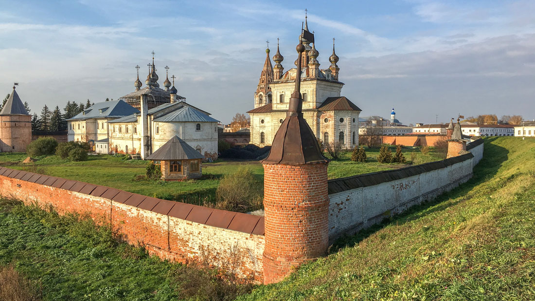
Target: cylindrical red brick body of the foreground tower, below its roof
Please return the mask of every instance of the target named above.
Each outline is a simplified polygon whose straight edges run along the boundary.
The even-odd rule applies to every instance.
[[[325,254],[328,205],[326,163],[264,164],[265,284]]]

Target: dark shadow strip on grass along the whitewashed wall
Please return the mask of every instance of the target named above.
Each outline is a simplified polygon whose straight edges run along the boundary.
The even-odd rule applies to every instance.
[[[360,243],[365,238],[368,238],[375,232],[387,227],[388,225],[404,224],[409,221],[420,219],[421,217],[424,217],[434,212],[445,210],[464,201],[464,199],[462,198],[463,195],[467,194],[470,190],[473,189],[473,187],[482,184],[487,180],[490,180],[498,173],[498,170],[502,166],[503,162],[507,161],[509,151],[506,148],[492,144],[492,141],[496,139],[498,138],[491,137],[484,139],[485,145],[483,159],[479,161],[476,167],[474,167],[473,176],[470,180],[468,180],[468,182],[459,185],[452,191],[441,194],[439,197],[431,201],[424,202],[420,205],[412,206],[401,214],[391,216],[379,224],[375,224],[369,228],[358,231],[355,235],[341,236],[340,238],[335,240],[332,246],[330,246],[329,253],[338,252],[338,250],[342,249],[343,247],[353,247],[355,244]],[[426,210],[449,199],[458,200],[454,202],[449,202],[447,204],[442,204],[431,210]]]

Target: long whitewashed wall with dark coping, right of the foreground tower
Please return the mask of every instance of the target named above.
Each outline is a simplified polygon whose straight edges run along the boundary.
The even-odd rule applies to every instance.
[[[483,140],[469,146],[470,153],[442,161],[329,180],[329,240],[370,227],[467,182],[483,157]]]

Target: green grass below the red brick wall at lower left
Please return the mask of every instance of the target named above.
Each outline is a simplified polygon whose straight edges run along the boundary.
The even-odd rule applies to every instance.
[[[8,265],[16,269],[3,281]],[[217,270],[149,257],[86,217],[9,199],[0,199],[0,272],[0,297],[29,296],[20,300],[231,300],[250,288]]]

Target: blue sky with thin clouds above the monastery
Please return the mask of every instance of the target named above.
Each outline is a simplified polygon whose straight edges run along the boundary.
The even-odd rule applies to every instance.
[[[361,116],[404,124],[458,114],[535,118],[535,1],[4,1],[0,95],[33,112],[134,91],[155,52],[188,103],[230,123],[253,109],[265,61],[280,39],[294,67],[305,9],[320,68],[332,38],[342,95]],[[438,116],[437,116],[438,115]]]

